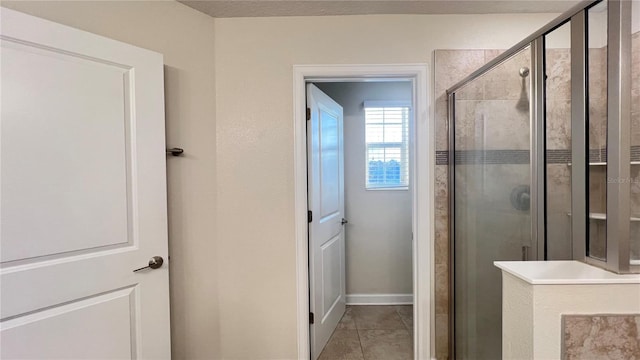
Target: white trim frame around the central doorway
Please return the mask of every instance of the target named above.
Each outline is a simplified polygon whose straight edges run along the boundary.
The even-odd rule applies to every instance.
[[[309,247],[307,221],[306,83],[313,80],[410,79],[413,131],[409,151],[413,231],[414,358],[435,358],[435,123],[429,107],[427,64],[294,65],[294,209],[298,359],[309,359]]]

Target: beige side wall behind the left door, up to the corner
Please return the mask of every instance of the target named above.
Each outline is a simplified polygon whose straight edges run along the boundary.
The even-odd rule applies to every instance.
[[[167,164],[172,353],[218,357],[214,20],[173,1],[2,6],[164,54],[167,144],[186,151]]]

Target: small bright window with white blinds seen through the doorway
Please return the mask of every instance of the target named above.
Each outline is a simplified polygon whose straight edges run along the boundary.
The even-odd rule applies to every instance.
[[[365,101],[366,188],[409,186],[409,113],[406,102]]]

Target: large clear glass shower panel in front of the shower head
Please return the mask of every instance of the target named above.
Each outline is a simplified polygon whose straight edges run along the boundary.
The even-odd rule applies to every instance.
[[[456,359],[502,357],[502,278],[493,262],[537,256],[531,236],[529,69],[526,47],[455,91]]]

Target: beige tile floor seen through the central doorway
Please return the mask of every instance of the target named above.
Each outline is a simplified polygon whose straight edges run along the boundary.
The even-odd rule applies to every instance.
[[[319,360],[413,359],[413,306],[347,306]]]

